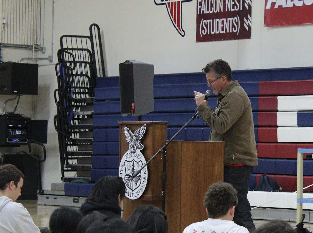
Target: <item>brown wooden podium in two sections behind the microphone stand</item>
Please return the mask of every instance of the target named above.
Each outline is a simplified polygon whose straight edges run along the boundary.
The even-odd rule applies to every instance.
[[[148,161],[166,143],[168,122],[118,122],[120,124],[120,161],[128,151],[124,127],[132,132],[146,124],[141,139],[141,153]],[[162,206],[163,154],[159,153],[148,164],[148,181],[144,194],[131,200],[124,198],[123,219],[141,205]],[[224,142],[172,141],[167,146],[167,182],[165,213],[169,233],[181,233],[194,222],[208,219],[203,207],[204,193],[208,187],[223,181]]]

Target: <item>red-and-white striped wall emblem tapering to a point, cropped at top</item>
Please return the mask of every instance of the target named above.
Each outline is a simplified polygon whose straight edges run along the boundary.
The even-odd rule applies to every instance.
[[[173,26],[183,37],[185,31],[182,29],[182,3],[192,0],[154,0],[156,5],[166,5],[168,16],[171,18]]]

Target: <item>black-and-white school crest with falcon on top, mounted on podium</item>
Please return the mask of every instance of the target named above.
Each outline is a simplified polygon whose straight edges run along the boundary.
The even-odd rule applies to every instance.
[[[119,168],[119,176],[124,179],[126,184],[126,197],[129,199],[139,198],[146,189],[148,178],[147,167],[143,168],[136,176],[133,175],[146,163],[146,159],[140,152],[143,149],[141,138],[146,132],[146,124],[137,129],[134,133],[124,127],[126,141],[129,142],[128,151],[123,155]]]

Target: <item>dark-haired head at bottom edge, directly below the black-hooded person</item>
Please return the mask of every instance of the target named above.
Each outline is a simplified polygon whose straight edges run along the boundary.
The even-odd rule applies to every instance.
[[[121,218],[104,217],[93,222],[85,233],[134,233],[131,226]]]

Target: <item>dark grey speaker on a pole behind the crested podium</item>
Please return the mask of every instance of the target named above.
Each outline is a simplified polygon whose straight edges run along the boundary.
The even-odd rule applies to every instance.
[[[120,64],[121,115],[141,116],[154,110],[154,65],[135,60]]]

